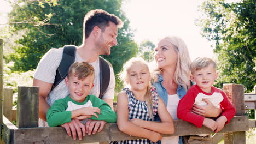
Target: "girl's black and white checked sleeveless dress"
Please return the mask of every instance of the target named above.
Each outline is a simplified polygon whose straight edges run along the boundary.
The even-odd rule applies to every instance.
[[[137,100],[135,95],[131,92],[129,88],[123,88],[128,97],[128,109],[129,109],[129,121],[133,118],[138,118],[146,121],[152,121],[149,118],[148,107],[146,101]],[[152,105],[153,105],[153,116],[156,115],[158,111],[158,94],[154,87],[151,88],[152,93]],[[137,139],[137,140],[125,140],[125,141],[112,141],[112,144],[144,144],[144,143],[154,143],[149,139]]]

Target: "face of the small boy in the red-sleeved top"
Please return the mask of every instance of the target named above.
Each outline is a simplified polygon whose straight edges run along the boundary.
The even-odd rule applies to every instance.
[[[213,68],[212,64],[200,70],[195,70],[191,76],[191,79],[196,82],[196,85],[207,93],[212,92],[212,85],[217,78],[218,73],[216,69]]]

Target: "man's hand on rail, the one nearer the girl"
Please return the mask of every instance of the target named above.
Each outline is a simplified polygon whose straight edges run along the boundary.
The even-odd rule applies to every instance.
[[[105,124],[106,124],[105,121],[96,121],[96,120],[88,119],[88,121],[85,123],[86,134],[94,135],[96,134],[96,132],[100,132],[104,128]]]

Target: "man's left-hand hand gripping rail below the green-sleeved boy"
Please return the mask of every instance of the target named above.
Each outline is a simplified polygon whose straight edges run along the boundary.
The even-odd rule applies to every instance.
[[[62,124],[61,127],[66,129],[69,137],[71,137],[71,133],[72,133],[74,140],[77,139],[77,135],[78,135],[78,139],[82,140],[82,133],[83,133],[83,136],[85,136],[85,133],[86,133],[84,124],[81,123],[78,119],[72,119],[71,122]]]

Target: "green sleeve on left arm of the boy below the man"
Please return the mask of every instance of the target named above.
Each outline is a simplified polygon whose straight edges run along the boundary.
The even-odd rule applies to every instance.
[[[65,99],[56,100],[47,112],[47,122],[50,127],[71,122],[71,111],[66,111]]]

